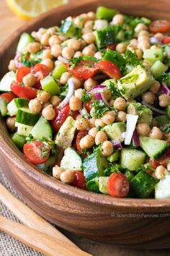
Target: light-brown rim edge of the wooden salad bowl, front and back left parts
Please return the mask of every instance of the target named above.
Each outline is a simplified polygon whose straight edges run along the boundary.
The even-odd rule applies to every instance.
[[[98,0],[86,0],[85,4],[97,4]],[[76,2],[76,7],[81,6],[81,1],[79,3]],[[9,36],[7,40],[1,44],[0,46],[0,59],[3,55],[4,51],[9,48],[9,46],[12,45],[12,41],[14,41],[16,38],[19,38],[19,35],[29,30],[32,25],[35,25],[37,22],[40,22],[42,20],[45,20],[46,17],[48,17],[52,13],[56,12],[64,12],[66,8],[75,6],[74,2],[71,2],[69,4],[65,4],[61,7],[57,7],[53,10],[50,10],[49,12],[46,12],[44,14],[41,14],[39,17],[35,18],[34,20],[31,20],[27,22],[27,24],[22,25],[22,27],[19,27],[19,29],[16,30],[15,33]],[[12,39],[13,38],[13,39]],[[12,162],[14,166],[19,168],[19,170],[23,171],[27,176],[30,176],[31,179],[34,179],[36,182],[42,182],[44,186],[47,186],[49,189],[53,189],[54,192],[61,192],[64,195],[68,197],[74,197],[77,200],[84,200],[86,202],[91,202],[93,204],[97,205],[107,205],[107,206],[114,206],[115,208],[122,208],[126,210],[130,209],[138,209],[138,210],[146,210],[148,212],[151,212],[153,210],[160,210],[161,208],[165,208],[165,211],[167,208],[170,207],[170,200],[169,199],[135,199],[135,198],[115,198],[111,197],[109,195],[99,195],[94,192],[85,191],[83,189],[79,189],[76,187],[72,187],[67,184],[63,184],[62,182],[59,182],[58,180],[54,179],[52,176],[49,176],[48,174],[45,174],[40,171],[39,168],[36,166],[28,163],[26,159],[24,158],[24,155],[17,149],[17,147],[13,144],[12,140],[9,140],[9,135],[4,129],[3,120],[0,121],[0,150],[1,153],[3,153],[6,158],[9,159],[9,161]],[[57,196],[57,194],[56,194]]]

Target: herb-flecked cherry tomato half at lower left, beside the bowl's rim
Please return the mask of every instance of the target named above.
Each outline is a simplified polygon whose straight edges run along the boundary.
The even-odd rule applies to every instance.
[[[24,144],[23,150],[27,161],[35,164],[45,163],[50,155],[50,149],[40,141]]]

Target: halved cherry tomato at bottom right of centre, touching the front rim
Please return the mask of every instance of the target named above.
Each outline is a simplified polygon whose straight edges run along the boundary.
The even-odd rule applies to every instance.
[[[120,173],[111,174],[107,186],[109,195],[112,195],[112,197],[125,197],[130,189],[127,177]]]

